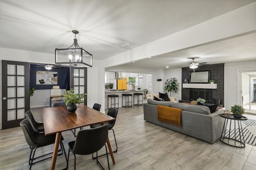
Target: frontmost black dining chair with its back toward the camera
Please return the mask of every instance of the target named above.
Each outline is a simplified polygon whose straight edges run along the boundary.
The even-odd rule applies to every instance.
[[[100,164],[98,160],[98,150],[100,150],[104,145],[106,149],[106,153],[108,152],[106,147],[106,142],[108,139],[108,125],[102,125],[100,127],[96,127],[94,129],[84,129],[78,131],[76,140],[68,143],[68,160],[70,151],[74,154],[74,170],[76,169],[76,154],[80,155],[88,155],[96,152],[97,163],[100,165],[102,169],[103,166]],[[108,154],[107,160],[108,160]],[[66,169],[68,169],[68,160]],[[108,169],[109,161],[108,161]]]

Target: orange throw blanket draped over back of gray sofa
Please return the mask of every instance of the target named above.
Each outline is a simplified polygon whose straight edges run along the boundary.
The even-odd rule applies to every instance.
[[[157,106],[157,118],[158,121],[165,123],[171,123],[180,127],[181,125],[181,111],[182,109],[177,109],[169,106]]]

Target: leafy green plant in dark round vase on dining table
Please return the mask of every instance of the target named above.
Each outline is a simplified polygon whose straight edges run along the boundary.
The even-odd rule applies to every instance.
[[[70,88],[70,91],[67,92],[64,90],[63,99],[65,100],[68,113],[74,113],[77,109],[76,104],[84,102],[83,99],[86,99],[86,93],[83,94],[75,94],[74,89]]]

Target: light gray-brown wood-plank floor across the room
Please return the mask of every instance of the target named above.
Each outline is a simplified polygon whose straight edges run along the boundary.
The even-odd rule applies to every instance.
[[[42,121],[41,109],[31,109],[35,119]],[[252,117],[250,117],[252,118]],[[86,127],[88,128],[88,127]],[[222,127],[220,127],[222,128]],[[110,158],[111,170],[255,170],[256,146],[246,144],[236,148],[220,140],[210,144],[176,131],[154,125],[143,118],[143,106],[119,108],[114,126],[118,152],[114,153],[116,164]],[[77,129],[78,130],[78,129]],[[71,131],[62,133],[68,153],[68,142],[75,139]],[[115,147],[112,131],[109,131],[112,149]],[[49,152],[52,146],[38,149],[37,153]],[[101,150],[104,152],[104,150]],[[30,153],[20,127],[0,130],[0,169],[28,170]],[[107,169],[106,156],[99,158]],[[50,169],[51,159],[32,165],[32,170]],[[69,168],[74,166],[70,154]],[[57,157],[56,170],[66,167],[64,154]],[[100,170],[91,155],[77,155],[77,170]]]

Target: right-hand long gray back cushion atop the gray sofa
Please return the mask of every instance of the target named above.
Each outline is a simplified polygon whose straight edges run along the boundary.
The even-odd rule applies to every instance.
[[[171,107],[176,107],[185,111],[191,111],[195,113],[201,113],[205,115],[211,114],[209,107],[207,106],[199,106],[199,105],[188,105],[188,104],[182,104],[182,103],[170,103]]]

